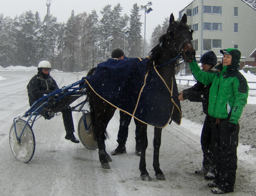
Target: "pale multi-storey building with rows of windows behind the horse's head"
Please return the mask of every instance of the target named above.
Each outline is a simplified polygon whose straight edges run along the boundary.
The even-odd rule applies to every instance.
[[[193,0],[179,12],[180,19],[184,13],[187,24],[194,30],[192,44],[197,56],[212,50],[221,61],[220,49],[238,48],[243,61],[241,67],[244,64],[256,66],[254,58],[250,57],[256,49],[256,9],[253,6],[244,0]]]

